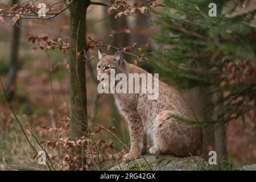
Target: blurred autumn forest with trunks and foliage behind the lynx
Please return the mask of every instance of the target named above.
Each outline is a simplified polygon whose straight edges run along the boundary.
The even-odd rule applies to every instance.
[[[113,97],[97,93],[97,46],[122,49],[183,93],[205,159],[215,150],[234,166],[256,163],[255,1],[46,0],[49,19],[34,14],[40,2],[0,1],[1,165],[108,169],[121,159],[129,132]]]

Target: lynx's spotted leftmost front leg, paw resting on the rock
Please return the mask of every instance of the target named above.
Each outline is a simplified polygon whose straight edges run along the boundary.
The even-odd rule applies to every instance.
[[[141,154],[145,152],[145,138],[143,132],[143,126],[141,118],[137,113],[129,113],[126,118],[128,122],[130,138],[131,138],[131,148],[130,152],[124,156],[125,162],[133,159],[137,159]]]

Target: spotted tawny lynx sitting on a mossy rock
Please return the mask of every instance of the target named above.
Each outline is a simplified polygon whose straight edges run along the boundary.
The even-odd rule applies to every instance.
[[[97,77],[103,73],[115,74],[147,73],[144,69],[127,63],[121,51],[114,56],[105,55],[100,50]],[[154,78],[156,79],[156,78]],[[171,86],[159,81],[159,97],[148,100],[147,94],[114,93],[115,103],[129,126],[131,148],[124,156],[126,161],[138,158],[147,151],[147,141],[151,141],[151,154],[172,154],[176,156],[200,155],[201,130],[177,121],[172,115],[197,121],[196,114],[183,96]]]

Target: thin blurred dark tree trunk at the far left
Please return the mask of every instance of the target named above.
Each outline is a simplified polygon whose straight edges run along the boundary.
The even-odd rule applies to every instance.
[[[12,4],[17,3],[17,0],[13,0]],[[9,101],[12,101],[15,96],[16,90],[16,78],[19,69],[19,39],[20,39],[20,28],[18,26],[21,25],[21,20],[16,22],[13,26],[13,36],[11,41],[11,56],[10,56],[10,69],[9,69],[9,82],[7,84],[7,98]]]

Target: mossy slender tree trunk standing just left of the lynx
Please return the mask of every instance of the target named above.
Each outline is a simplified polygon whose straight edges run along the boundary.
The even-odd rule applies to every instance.
[[[71,138],[79,138],[87,130],[86,112],[86,10],[89,0],[73,1],[70,5],[69,60]]]

